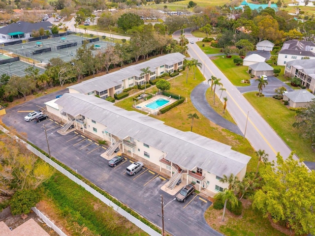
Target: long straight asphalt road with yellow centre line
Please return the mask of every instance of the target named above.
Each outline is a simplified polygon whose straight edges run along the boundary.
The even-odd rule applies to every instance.
[[[189,37],[186,35],[186,37],[189,39],[189,42],[190,40],[197,40],[197,38],[193,36]],[[188,48],[190,57],[198,59],[199,62],[202,63],[202,69],[200,69],[200,71],[204,73],[206,81],[210,79],[212,75],[221,78],[221,83],[226,89],[226,91],[223,91],[221,100],[223,97],[227,96],[227,110],[234,118],[244,136],[252,144],[252,147],[256,150],[265,150],[265,152],[269,154],[269,161],[276,160],[277,152],[280,152],[284,159],[287,158],[291,153],[291,149],[286,146],[284,141],[270,125],[254,110],[252,105],[243,97],[239,88],[232,85],[196,44],[189,43]],[[272,80],[274,79],[271,78],[270,82],[272,82]],[[219,94],[221,91],[216,89],[216,92]],[[272,113],[273,111],[270,110],[269,112]],[[297,159],[295,155],[294,158]]]

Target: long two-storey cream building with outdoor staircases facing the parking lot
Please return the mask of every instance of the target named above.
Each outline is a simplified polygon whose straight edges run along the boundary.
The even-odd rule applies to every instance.
[[[242,180],[251,159],[228,145],[177,130],[161,120],[126,111],[95,96],[65,93],[47,102],[46,107],[47,112],[74,124],[76,129],[106,140],[110,145],[108,156],[119,147],[136,160],[149,161],[171,177],[171,189],[182,179],[187,184],[194,183],[198,191],[223,191],[227,187],[220,182],[223,175],[233,174]]]

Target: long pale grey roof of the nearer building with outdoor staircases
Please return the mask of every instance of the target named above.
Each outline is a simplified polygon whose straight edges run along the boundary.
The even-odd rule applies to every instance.
[[[95,96],[65,93],[56,103],[65,113],[80,114],[105,125],[107,132],[121,139],[130,136],[165,152],[165,159],[189,170],[199,167],[220,177],[237,175],[251,159],[228,145],[169,127],[158,119],[126,111]]]

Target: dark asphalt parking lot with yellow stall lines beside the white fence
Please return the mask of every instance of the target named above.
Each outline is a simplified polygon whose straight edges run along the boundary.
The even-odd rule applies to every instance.
[[[164,223],[165,230],[170,234],[195,235],[198,232],[198,235],[221,235],[210,228],[204,219],[205,210],[212,204],[207,199],[194,194],[185,203],[174,201],[176,194],[172,196],[161,190],[168,181],[167,177],[148,169],[146,165],[134,176],[129,176],[126,167],[134,161],[129,156],[124,156],[126,160],[116,167],[110,167],[107,164],[109,158],[101,156],[106,147],[83,132],[73,130],[62,135],[57,132],[62,124],[51,118],[37,124],[24,120],[28,112],[44,107],[44,102],[60,93],[62,92],[39,97],[9,109],[2,121],[7,126],[13,126],[19,133],[25,132],[30,142],[48,153],[46,128],[50,152],[54,158],[159,227],[162,223],[160,198],[163,194],[164,206],[169,203],[164,207]]]

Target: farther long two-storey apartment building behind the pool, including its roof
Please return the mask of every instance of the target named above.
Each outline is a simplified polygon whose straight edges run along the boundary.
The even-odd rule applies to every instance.
[[[131,65],[110,74],[95,77],[80,84],[68,87],[69,92],[80,92],[87,95],[98,95],[105,99],[114,94],[120,94],[124,89],[144,85],[145,81],[154,80],[163,73],[172,73],[183,69],[185,56],[181,53],[171,53],[155,59]],[[150,68],[150,76],[141,75],[141,69]],[[150,78],[149,78],[150,77]]]

